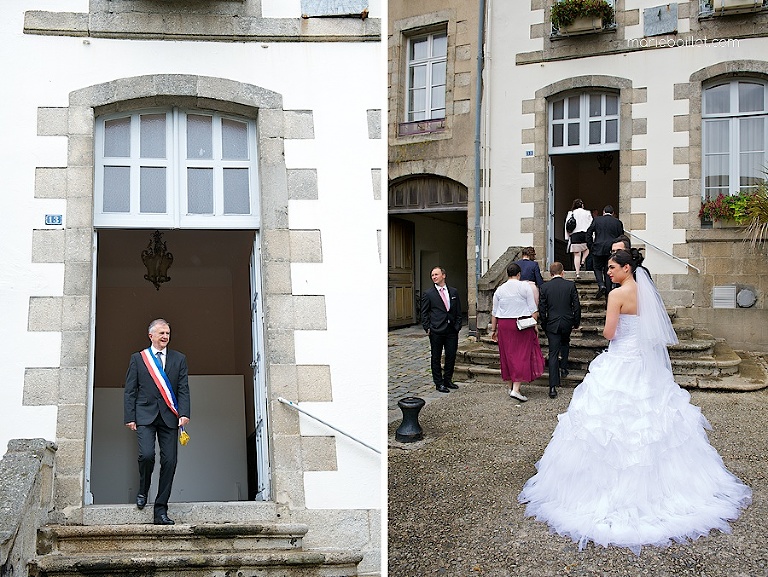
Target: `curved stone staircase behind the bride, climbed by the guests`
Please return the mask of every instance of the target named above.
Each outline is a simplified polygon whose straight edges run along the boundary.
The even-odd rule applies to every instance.
[[[545,281],[548,274],[544,274]],[[563,385],[577,385],[587,373],[589,363],[608,346],[603,337],[605,325],[605,299],[594,298],[597,283],[592,273],[576,279],[573,271],[566,271],[565,278],[575,281],[581,303],[581,327],[571,333],[569,375]],[[669,310],[672,326],[677,333],[677,345],[669,347],[672,371],[676,382],[689,389],[756,390],[766,386],[766,369],[761,358],[748,353],[737,353],[722,340],[715,339],[707,331],[696,328],[691,318],[684,316],[684,309]],[[482,328],[482,327],[480,327]],[[547,337],[541,327],[539,342],[546,359]],[[484,331],[483,331],[484,332]],[[490,336],[481,334],[475,342],[459,346],[456,358],[455,379],[461,381],[503,382],[499,368],[498,345]],[[547,385],[548,373],[535,384]]]

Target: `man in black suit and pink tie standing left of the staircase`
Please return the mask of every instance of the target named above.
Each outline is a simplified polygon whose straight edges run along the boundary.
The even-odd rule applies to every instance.
[[[443,267],[433,268],[431,276],[435,286],[421,295],[421,326],[429,335],[432,381],[438,391],[449,393],[450,389],[459,388],[453,383],[453,367],[456,364],[456,351],[459,348],[461,301],[459,291],[445,284]],[[445,370],[440,367],[443,349],[445,349]]]

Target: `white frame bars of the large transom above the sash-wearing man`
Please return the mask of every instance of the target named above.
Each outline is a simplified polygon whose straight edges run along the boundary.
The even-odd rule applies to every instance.
[[[166,158],[140,158],[140,116],[145,114],[166,115]],[[188,114],[213,118],[213,159],[187,159],[186,117]],[[108,158],[104,156],[105,123],[120,118],[131,119],[130,157]],[[247,126],[248,159],[221,159],[221,122],[230,119]],[[217,130],[217,128],[219,128]],[[217,158],[218,157],[218,158]],[[131,171],[130,208],[127,212],[104,211],[104,167],[127,166]],[[142,213],[139,199],[139,172],[141,167],[163,166],[166,170],[166,212]],[[256,122],[253,119],[223,114],[209,110],[179,108],[150,108],[100,116],[94,131],[94,226],[99,228],[199,228],[232,229],[259,228],[260,205],[258,188],[258,150]],[[190,214],[187,210],[187,169],[211,168],[213,179],[213,213]],[[247,168],[250,195],[249,214],[224,214],[223,174],[225,168]]]

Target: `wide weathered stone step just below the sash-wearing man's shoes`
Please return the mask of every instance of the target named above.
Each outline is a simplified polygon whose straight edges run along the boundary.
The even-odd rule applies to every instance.
[[[307,532],[299,524],[49,525],[38,531],[37,552],[57,553],[219,553],[270,549],[299,550]]]

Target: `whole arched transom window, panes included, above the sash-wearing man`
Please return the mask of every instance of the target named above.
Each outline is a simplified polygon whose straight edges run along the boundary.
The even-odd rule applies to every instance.
[[[94,225],[259,226],[256,124],[153,109],[99,117]]]

